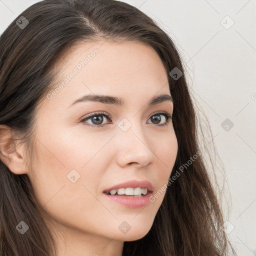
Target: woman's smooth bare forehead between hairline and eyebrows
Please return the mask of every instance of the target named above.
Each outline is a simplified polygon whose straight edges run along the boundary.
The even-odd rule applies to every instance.
[[[53,99],[62,107],[85,93],[109,94],[124,101],[169,94],[164,65],[143,42],[80,42],[58,64],[54,86],[60,88]]]

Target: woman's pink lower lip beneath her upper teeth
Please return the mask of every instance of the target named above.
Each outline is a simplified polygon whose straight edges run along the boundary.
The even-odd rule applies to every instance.
[[[147,193],[141,197],[134,197],[134,196],[123,196],[123,195],[109,195],[103,193],[109,200],[122,204],[129,208],[139,208],[143,207],[149,203],[149,197],[151,196],[152,192]]]

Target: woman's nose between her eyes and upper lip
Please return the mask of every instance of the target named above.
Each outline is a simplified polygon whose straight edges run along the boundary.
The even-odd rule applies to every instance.
[[[132,123],[126,131],[119,129],[115,136],[119,166],[134,164],[139,168],[153,163],[156,159],[152,148],[154,140],[146,135],[139,124]]]

